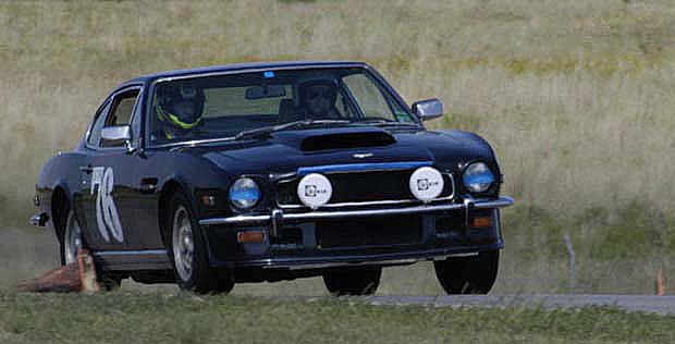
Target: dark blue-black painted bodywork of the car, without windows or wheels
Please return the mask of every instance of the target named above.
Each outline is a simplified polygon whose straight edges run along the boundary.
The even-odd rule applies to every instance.
[[[163,223],[165,200],[171,193],[182,192],[204,229],[210,263],[234,269],[237,280],[243,281],[289,278],[292,271],[297,275],[312,274],[340,266],[405,265],[502,248],[499,208],[513,200],[500,197],[501,171],[494,151],[472,133],[427,131],[415,118],[416,123],[412,124],[416,125],[409,126],[345,124],[242,139],[150,144],[150,95],[158,81],[329,66],[368,70],[409,111],[377,72],[356,62],[236,64],[138,77],[118,87],[111,98],[138,88],[131,126],[139,133],[128,147],[93,147],[87,142],[96,130],[93,124],[73,152],[49,160],[36,185],[36,200],[44,219],[50,219],[48,223],[58,231],[56,219],[63,216],[59,209],[68,202],[83,229],[87,247],[103,269],[170,269],[171,253],[167,249]],[[98,112],[105,112],[103,108],[106,102]],[[470,195],[462,183],[464,169],[472,162],[484,162],[496,176],[484,194]],[[382,189],[394,185],[391,183],[396,183],[395,177],[409,179],[419,167],[432,167],[443,173],[446,183],[452,184],[444,191],[445,198],[422,202],[406,194],[407,186],[400,192]],[[97,209],[100,196],[96,185],[98,189],[102,187],[108,169],[114,171],[114,185],[108,196],[116,206],[122,233],[108,231],[106,239],[98,226],[101,211]],[[339,191],[340,197],[359,201],[312,210],[298,202],[291,192],[283,200],[287,204],[282,205],[284,186],[280,183],[297,185],[297,180],[306,174],[304,171],[324,173],[335,185],[372,187],[369,193],[373,195],[380,187],[382,195],[404,199],[367,202],[364,195],[368,193],[349,192],[347,187]],[[397,174],[386,174],[390,171]],[[361,174],[349,180],[352,172]],[[245,211],[233,207],[228,196],[229,187],[241,176],[250,176],[261,189],[260,201]],[[214,201],[206,205],[204,199]],[[312,213],[317,218],[311,218]],[[490,217],[492,224],[471,228],[469,222],[476,214]],[[247,231],[265,233],[265,241],[240,243],[238,233]]]

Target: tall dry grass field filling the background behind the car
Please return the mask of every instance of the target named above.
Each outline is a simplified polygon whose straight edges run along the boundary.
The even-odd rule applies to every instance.
[[[3,1],[0,27],[4,275],[53,261],[47,234],[17,234],[33,185],[112,87],[293,59],[367,61],[409,102],[444,101],[432,127],[494,146],[518,201],[504,211],[498,291],[567,291],[565,233],[576,291],[650,293],[658,269],[675,275],[671,1]]]

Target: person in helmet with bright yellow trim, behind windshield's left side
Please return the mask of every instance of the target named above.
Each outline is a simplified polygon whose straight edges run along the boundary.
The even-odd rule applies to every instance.
[[[157,88],[157,138],[189,137],[201,124],[204,91],[193,84],[165,84]]]

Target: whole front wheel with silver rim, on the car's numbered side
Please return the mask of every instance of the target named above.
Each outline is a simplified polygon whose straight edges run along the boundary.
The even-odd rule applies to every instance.
[[[201,228],[191,202],[183,193],[175,193],[170,201],[168,246],[175,280],[182,290],[199,294],[229,293],[234,287],[228,270],[209,266]]]

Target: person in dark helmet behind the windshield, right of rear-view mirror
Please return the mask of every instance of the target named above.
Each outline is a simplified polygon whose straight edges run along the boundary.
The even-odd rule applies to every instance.
[[[299,87],[300,106],[305,110],[307,120],[340,119],[335,109],[338,85],[331,79],[315,79],[302,84]]]

